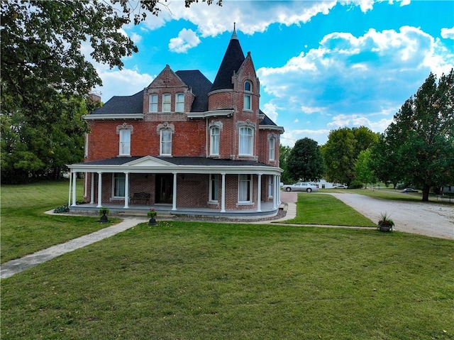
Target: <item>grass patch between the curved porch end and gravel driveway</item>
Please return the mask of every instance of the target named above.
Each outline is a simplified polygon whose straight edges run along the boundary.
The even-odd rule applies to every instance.
[[[298,194],[297,217],[284,223],[331,226],[377,226],[330,194]]]

